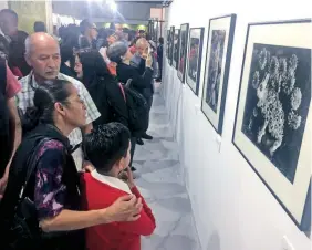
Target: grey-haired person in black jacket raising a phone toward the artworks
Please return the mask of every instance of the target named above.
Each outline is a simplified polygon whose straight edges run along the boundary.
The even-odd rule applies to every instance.
[[[118,81],[125,84],[131,79],[133,88],[144,96],[145,90],[150,86],[153,79],[152,55],[146,55],[143,74],[136,67],[129,65],[133,54],[125,42],[118,41],[110,45],[107,56],[112,62],[117,63]],[[137,144],[143,145],[141,136],[137,137]]]

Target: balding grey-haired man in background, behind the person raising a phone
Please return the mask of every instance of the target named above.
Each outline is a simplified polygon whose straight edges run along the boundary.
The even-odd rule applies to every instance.
[[[148,85],[148,87],[146,87],[143,91],[143,96],[146,98],[147,104],[148,104],[148,110],[150,112],[150,107],[153,104],[153,94],[154,94],[154,79],[156,77],[157,74],[157,64],[156,64],[156,60],[152,54],[152,50],[150,50],[150,45],[148,43],[148,41],[145,38],[141,38],[136,41],[136,53],[133,55],[132,60],[131,60],[131,65],[136,67],[138,70],[138,73],[141,75],[144,74],[145,72],[145,60],[148,55],[148,53],[150,53],[152,58],[153,58],[153,63],[152,63],[152,67],[153,67],[153,79],[150,81],[150,84]],[[149,121],[148,121],[149,122]],[[142,138],[144,139],[153,139],[153,136],[146,134],[146,132],[142,135]],[[143,140],[141,138],[137,139],[137,144],[143,145]]]

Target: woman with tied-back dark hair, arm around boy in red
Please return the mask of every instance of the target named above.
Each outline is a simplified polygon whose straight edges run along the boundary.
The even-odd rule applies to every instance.
[[[80,211],[80,183],[67,135],[85,124],[86,111],[74,85],[62,80],[40,84],[33,103],[24,127],[31,133],[17,150],[0,204],[3,241],[10,246],[3,249],[84,249],[81,229],[136,220],[142,206],[129,196],[106,209]],[[32,238],[14,231],[17,226],[31,228]]]

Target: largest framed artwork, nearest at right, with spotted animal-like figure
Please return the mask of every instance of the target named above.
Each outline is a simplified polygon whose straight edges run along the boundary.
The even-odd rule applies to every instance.
[[[248,25],[233,144],[311,230],[311,19]]]

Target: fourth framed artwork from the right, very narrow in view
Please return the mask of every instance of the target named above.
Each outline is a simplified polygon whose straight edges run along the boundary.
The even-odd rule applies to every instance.
[[[186,67],[186,53],[188,43],[188,30],[189,24],[184,23],[180,27],[180,39],[179,39],[179,53],[178,53],[178,77],[184,83],[185,81],[185,67]]]

